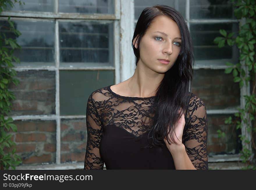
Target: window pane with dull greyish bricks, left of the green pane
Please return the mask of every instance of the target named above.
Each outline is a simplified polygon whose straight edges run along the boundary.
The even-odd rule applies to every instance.
[[[10,85],[16,99],[12,101],[10,115],[55,114],[55,72],[17,72],[19,84]]]

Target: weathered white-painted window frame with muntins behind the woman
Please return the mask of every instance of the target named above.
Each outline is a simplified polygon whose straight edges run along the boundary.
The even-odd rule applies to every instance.
[[[177,6],[177,0],[175,0],[175,7]],[[118,84],[134,74],[135,70],[135,56],[131,48],[131,39],[134,32],[134,1],[126,0],[113,0],[114,3],[114,14],[79,14],[79,13],[58,13],[58,0],[54,1],[54,12],[32,12],[32,11],[4,11],[1,13],[0,19],[7,19],[8,16],[15,19],[33,19],[33,20],[54,20],[55,22],[55,66],[15,66],[16,71],[26,71],[26,70],[49,70],[56,72],[56,114],[55,115],[22,115],[13,116],[13,120],[56,120],[56,163],[61,164],[61,119],[84,119],[85,115],[60,115],[60,92],[59,92],[59,71],[60,70],[115,70],[115,84]],[[186,12],[186,23],[190,30],[190,23],[239,23],[239,27],[245,21],[243,19],[190,19],[190,0],[186,0],[185,5]],[[122,12],[122,14],[120,14]],[[67,67],[60,66],[60,47],[59,47],[59,22],[60,21],[97,21],[97,20],[110,20],[113,21],[113,44],[114,44],[114,66],[103,66],[103,67]],[[125,52],[125,53],[124,53]],[[242,68],[245,69],[244,61],[240,62]],[[196,64],[194,69],[225,69],[228,66],[224,65],[203,65]],[[246,76],[248,76],[248,70],[246,70]],[[244,95],[250,94],[250,83],[246,87],[245,85],[240,89],[240,106],[245,105]],[[238,111],[235,109],[218,109],[218,110],[207,110],[207,114],[234,114]],[[242,135],[250,137],[249,132],[246,131],[245,125],[242,123]],[[245,144],[242,142],[243,147],[250,148],[251,144]],[[228,161],[238,161],[240,154],[235,155],[215,155],[208,157],[208,162],[228,162]],[[79,165],[79,164],[78,164]],[[74,164],[73,168],[78,167]],[[79,167],[82,167],[82,165]],[[105,168],[105,164],[104,164]]]

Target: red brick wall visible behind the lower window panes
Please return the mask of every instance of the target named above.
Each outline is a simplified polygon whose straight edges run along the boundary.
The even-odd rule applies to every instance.
[[[55,72],[17,72],[20,84],[10,86],[16,100],[13,101],[11,116],[55,114]],[[200,97],[209,109],[236,108],[240,104],[238,84],[232,75],[224,70],[194,70],[192,92]],[[232,115],[232,114],[230,114]],[[224,123],[227,114],[208,114],[208,155],[237,153],[241,142],[239,131]],[[55,163],[56,161],[56,121],[16,120],[18,132],[12,134],[17,144],[17,154],[23,165]],[[227,136],[218,139],[217,130]],[[61,163],[83,162],[86,151],[86,119],[61,119]]]

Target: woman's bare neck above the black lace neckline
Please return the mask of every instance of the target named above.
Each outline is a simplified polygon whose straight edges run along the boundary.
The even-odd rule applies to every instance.
[[[135,97],[155,96],[164,74],[157,73],[138,61],[134,75],[127,80],[127,86]]]

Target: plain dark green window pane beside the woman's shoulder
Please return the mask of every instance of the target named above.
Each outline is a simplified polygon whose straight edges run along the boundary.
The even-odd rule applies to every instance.
[[[90,94],[99,88],[114,84],[114,73],[114,70],[61,70],[61,115],[85,115]]]

